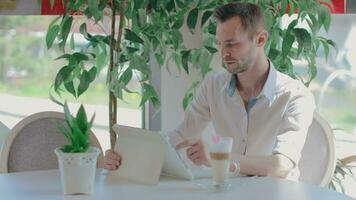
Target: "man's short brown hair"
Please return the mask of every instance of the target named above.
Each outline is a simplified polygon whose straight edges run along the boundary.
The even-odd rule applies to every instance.
[[[218,22],[225,22],[236,16],[240,17],[245,30],[253,32],[259,26],[264,27],[263,13],[257,4],[233,2],[214,10],[214,17]]]

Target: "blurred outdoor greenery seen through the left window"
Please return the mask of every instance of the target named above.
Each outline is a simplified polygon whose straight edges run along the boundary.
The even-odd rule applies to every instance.
[[[50,87],[63,61],[54,61],[59,50],[48,50],[44,35],[53,17],[1,16],[0,17],[0,93],[17,96],[48,98]],[[91,89],[79,101],[90,104],[107,104],[107,87],[104,68]],[[131,87],[138,88],[133,82]],[[71,95],[64,94],[68,101]],[[125,102],[119,107],[137,109],[140,96],[124,93]]]

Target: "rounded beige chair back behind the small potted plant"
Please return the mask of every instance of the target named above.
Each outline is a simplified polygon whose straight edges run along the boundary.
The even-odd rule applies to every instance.
[[[6,138],[0,157],[0,172],[58,169],[54,149],[67,144],[65,136],[58,130],[59,124],[68,127],[64,114],[40,112],[21,120]],[[92,146],[101,146],[90,132]],[[98,166],[103,162],[103,153],[98,157]]]

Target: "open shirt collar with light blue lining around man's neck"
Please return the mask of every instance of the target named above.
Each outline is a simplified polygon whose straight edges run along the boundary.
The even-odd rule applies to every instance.
[[[263,86],[261,93],[257,96],[257,98],[264,96],[269,100],[269,103],[272,104],[272,102],[275,99],[275,94],[276,94],[277,71],[274,68],[272,62],[270,60],[268,60],[268,62],[270,63],[270,68],[269,68],[267,80]],[[227,94],[230,97],[232,97],[237,89],[236,88],[237,76],[235,76],[234,74],[231,74],[230,77],[231,77],[230,82],[227,85],[226,91],[227,91]]]

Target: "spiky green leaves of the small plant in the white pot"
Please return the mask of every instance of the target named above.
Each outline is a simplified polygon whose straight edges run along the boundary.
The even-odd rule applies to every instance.
[[[88,121],[84,106],[81,105],[74,117],[69,111],[67,102],[64,103],[63,110],[69,128],[58,125],[58,129],[67,138],[69,144],[64,145],[61,150],[65,153],[86,152],[90,146],[90,128],[95,115]]]

